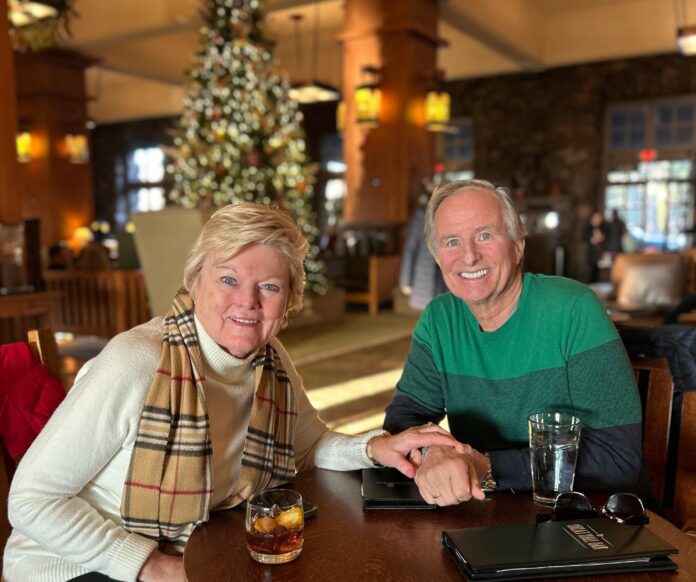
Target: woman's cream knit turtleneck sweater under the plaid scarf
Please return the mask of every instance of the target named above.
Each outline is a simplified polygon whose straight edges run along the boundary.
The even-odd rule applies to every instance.
[[[239,474],[254,382],[251,357],[238,360],[198,324],[213,443],[213,506]],[[123,483],[140,413],[159,363],[162,318],[115,337],[85,364],[67,398],[26,453],[12,481],[13,532],[3,582],[64,582],[97,571],[135,582],[157,543],[121,526]],[[371,467],[365,446],[382,431],[331,432],[307,399],[290,358],[273,340],[295,390],[298,470]]]

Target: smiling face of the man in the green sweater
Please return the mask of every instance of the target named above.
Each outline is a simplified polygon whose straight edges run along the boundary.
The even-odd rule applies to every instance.
[[[513,294],[524,240],[513,241],[502,206],[486,190],[462,190],[435,213],[437,263],[449,290],[472,310],[495,307]]]

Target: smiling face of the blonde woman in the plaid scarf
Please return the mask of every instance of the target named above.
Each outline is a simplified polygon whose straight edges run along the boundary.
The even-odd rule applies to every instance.
[[[194,287],[194,311],[208,335],[237,358],[266,345],[280,330],[290,293],[290,262],[257,244],[221,263],[210,253]]]

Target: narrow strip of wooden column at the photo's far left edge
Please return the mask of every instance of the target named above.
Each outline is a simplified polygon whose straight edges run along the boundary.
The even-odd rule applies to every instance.
[[[17,97],[7,0],[0,0],[0,223],[22,221],[17,188]]]

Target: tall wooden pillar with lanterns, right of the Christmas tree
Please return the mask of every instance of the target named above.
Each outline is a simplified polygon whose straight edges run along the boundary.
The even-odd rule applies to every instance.
[[[437,67],[437,0],[347,0],[343,42],[344,158],[348,224],[403,223],[431,177],[434,140],[424,125],[425,93]],[[379,127],[355,122],[361,69],[381,69]]]

